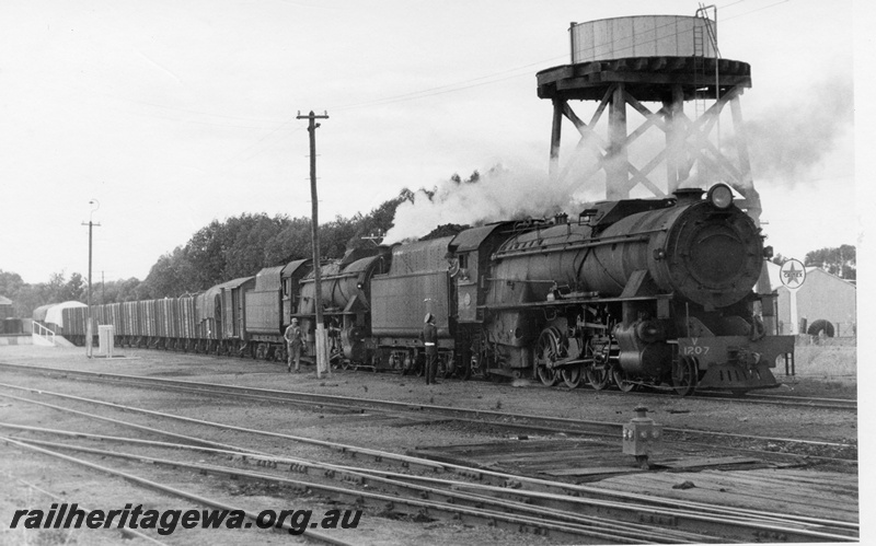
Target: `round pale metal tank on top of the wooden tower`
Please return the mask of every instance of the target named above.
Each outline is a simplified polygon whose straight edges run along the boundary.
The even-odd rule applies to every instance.
[[[715,22],[696,16],[636,15],[572,23],[572,63],[626,57],[715,57],[710,30],[717,40]]]

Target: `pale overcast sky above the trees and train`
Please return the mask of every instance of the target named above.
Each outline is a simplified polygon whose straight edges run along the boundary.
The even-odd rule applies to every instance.
[[[91,199],[95,281],[146,278],[214,219],[309,216],[299,111],[330,116],[318,131],[321,220],[496,164],[543,184],[551,104],[535,72],[569,62],[569,22],[696,8],[4,0],[0,269],[32,283],[87,274]],[[723,57],[751,65],[741,104],[761,139],[754,184],[768,244],[785,256],[858,243],[856,19],[850,1],[718,4]]]

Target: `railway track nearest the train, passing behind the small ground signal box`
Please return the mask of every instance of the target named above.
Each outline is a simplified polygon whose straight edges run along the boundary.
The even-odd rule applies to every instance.
[[[479,426],[495,426],[523,431],[542,433],[581,434],[588,437],[620,438],[623,422],[607,422],[596,420],[568,419],[561,417],[537,416],[526,414],[511,414],[500,410],[468,409],[429,404],[411,404],[394,400],[380,400],[372,398],[356,398],[318,393],[296,391],[267,390],[218,383],[193,382],[171,380],[166,377],[147,377],[141,375],[112,374],[103,372],[88,372],[82,370],[55,369],[45,367],[30,367],[24,364],[0,363],[0,369],[22,373],[45,374],[60,379],[87,379],[89,381],[104,381],[135,387],[154,388],[184,392],[209,397],[229,397],[264,403],[291,404],[310,409],[358,413],[382,413],[404,418],[448,418],[459,422]],[[0,386],[3,384],[0,383]],[[856,465],[857,451],[854,446],[840,442],[821,442],[794,438],[754,437],[751,434],[733,434],[699,429],[679,429],[665,427],[664,432],[671,440],[683,438],[687,443],[699,441],[707,444],[714,441],[736,440],[757,442],[759,444],[781,445],[781,450],[762,451],[751,448],[735,448],[734,451],[756,452],[770,457],[796,457],[800,453],[811,461],[823,460],[841,464]],[[798,446],[798,449],[795,449]],[[812,449],[837,451],[844,456],[814,455]],[[800,453],[798,453],[800,452]]]

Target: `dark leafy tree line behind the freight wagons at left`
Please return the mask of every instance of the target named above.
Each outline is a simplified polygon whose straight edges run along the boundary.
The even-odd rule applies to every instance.
[[[400,194],[367,214],[336,217],[320,225],[320,253],[324,258],[343,257],[347,249],[370,246],[365,239],[392,228],[395,209],[414,193]],[[313,245],[309,218],[243,213],[222,222],[214,220],[198,230],[185,245],[159,257],[142,281],[137,278],[94,282],[92,303],[174,298],[195,293],[260,269],[310,258]],[[53,274],[48,282],[30,284],[21,276],[0,269],[0,295],[12,300],[14,316],[30,317],[45,304],[88,299],[88,279],[74,272]]]

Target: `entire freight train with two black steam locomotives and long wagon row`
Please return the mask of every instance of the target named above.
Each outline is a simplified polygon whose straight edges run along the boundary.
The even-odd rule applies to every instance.
[[[777,385],[794,358],[774,335],[775,293],[754,287],[771,254],[731,189],[600,201],[577,218],[503,221],[374,246],[321,267],[324,327],[339,367],[418,372],[424,315],[439,374],[744,393]],[[198,294],[96,305],[122,346],[285,360],[298,317],[315,355],[309,259]],[[84,342],[85,310],[65,310]]]

